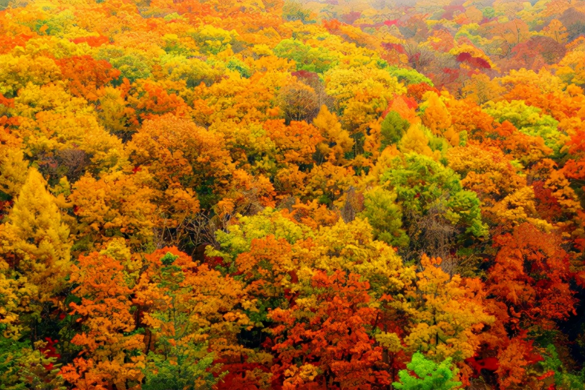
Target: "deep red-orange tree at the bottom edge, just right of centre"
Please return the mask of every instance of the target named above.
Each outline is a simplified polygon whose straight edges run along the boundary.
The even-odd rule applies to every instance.
[[[381,348],[374,347],[367,333],[377,317],[377,310],[368,306],[369,283],[356,274],[317,271],[311,288],[315,303],[303,299],[269,315],[276,324],[271,329],[276,341],[272,349],[280,361],[273,374],[283,375],[283,388],[318,388],[327,377],[345,389],[389,384],[388,374],[375,370]],[[301,367],[295,364],[298,360],[304,362]]]

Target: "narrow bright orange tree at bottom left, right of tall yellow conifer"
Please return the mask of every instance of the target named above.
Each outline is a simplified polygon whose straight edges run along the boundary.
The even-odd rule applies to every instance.
[[[71,343],[81,347],[82,354],[61,368],[61,376],[87,390],[139,384],[144,377],[144,337],[136,332],[125,267],[93,252],[78,258],[71,280],[78,285],[73,294],[79,301],[70,303],[70,315],[82,325]]]

